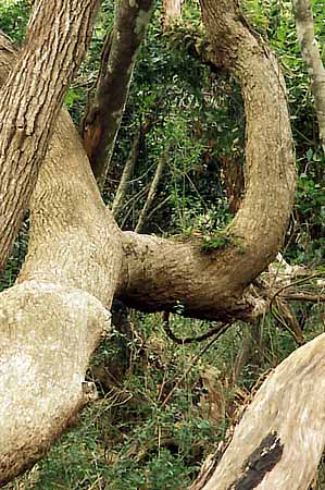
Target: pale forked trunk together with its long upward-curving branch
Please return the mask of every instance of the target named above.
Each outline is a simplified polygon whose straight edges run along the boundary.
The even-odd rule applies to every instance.
[[[275,257],[295,194],[285,88],[275,59],[241,24],[236,8],[223,0],[207,3],[212,46],[234,66],[247,113],[247,188],[230,240],[207,253],[200,242],[122,233],[100,198],[71,119],[61,113],[30,201],[26,260],[17,284],[0,295],[2,483],[40,457],[83,404],[87,363],[108,327],[105,308],[115,293],[145,308],[182,304],[188,315],[203,318],[257,308],[247,285]],[[10,59],[10,51],[0,49],[2,57]],[[51,93],[41,96],[51,107]],[[17,138],[20,127],[13,127]],[[39,135],[34,127],[32,142]]]

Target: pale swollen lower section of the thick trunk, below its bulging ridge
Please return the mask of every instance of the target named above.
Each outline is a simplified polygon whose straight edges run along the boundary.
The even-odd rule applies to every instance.
[[[0,308],[3,486],[41,457],[89,401],[85,372],[110,314],[86,292],[36,281],[1,294]]]

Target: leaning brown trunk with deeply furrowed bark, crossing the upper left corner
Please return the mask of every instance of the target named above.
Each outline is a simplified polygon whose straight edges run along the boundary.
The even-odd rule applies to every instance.
[[[53,121],[86,53],[98,5],[99,0],[37,1],[25,45],[1,89],[0,270],[28,206]]]

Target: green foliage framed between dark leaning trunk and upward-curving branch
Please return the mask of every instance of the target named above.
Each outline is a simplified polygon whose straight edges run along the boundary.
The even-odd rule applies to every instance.
[[[195,5],[195,7],[193,7]],[[158,162],[170,146],[167,168],[146,231],[183,233],[193,221],[224,224],[228,205],[221,179],[222,157],[242,158],[242,102],[234,81],[216,79],[193,49],[203,36],[198,7],[190,3],[184,23],[161,32],[157,10],[134,73],[129,100],[113,157],[110,195],[140,124],[154,121],[142,142],[129,206],[121,223],[133,229]],[[116,175],[117,173],[117,175]],[[114,184],[116,182],[116,184]],[[162,205],[163,204],[163,205]]]

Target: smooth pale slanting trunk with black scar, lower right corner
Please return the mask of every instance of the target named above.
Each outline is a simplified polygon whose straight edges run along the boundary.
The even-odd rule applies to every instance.
[[[213,475],[207,482],[203,471],[191,490],[310,488],[325,445],[324,348],[322,334],[275,369],[246,409]]]

